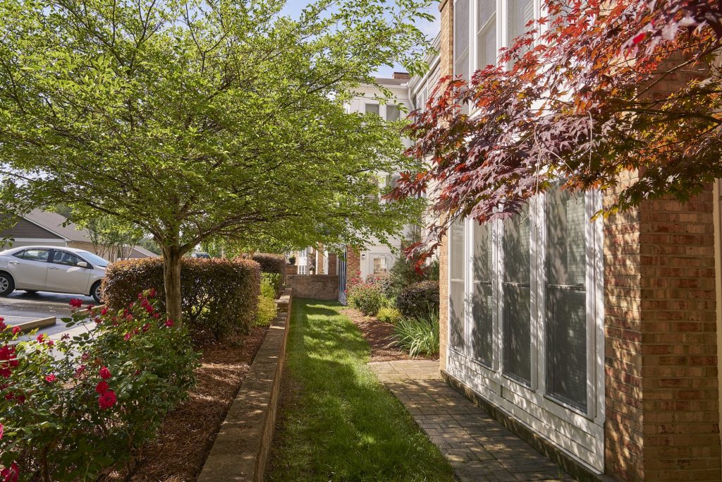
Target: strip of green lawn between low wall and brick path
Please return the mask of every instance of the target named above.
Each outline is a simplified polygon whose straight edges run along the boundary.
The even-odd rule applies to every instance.
[[[453,481],[453,471],[367,366],[370,348],[342,306],[295,299],[288,340],[293,395],[269,481]]]

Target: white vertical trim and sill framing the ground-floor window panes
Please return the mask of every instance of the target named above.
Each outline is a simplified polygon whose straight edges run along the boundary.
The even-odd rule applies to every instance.
[[[591,191],[585,194],[586,215],[590,219],[601,209],[601,193]],[[545,379],[545,337],[544,337],[544,196],[533,199],[529,209],[531,215],[530,241],[531,249],[531,384],[514,379],[503,373],[503,249],[501,237],[503,224],[500,220],[492,221],[492,263],[495,266],[495,280],[492,283],[492,330],[494,345],[492,347],[492,367],[488,367],[472,355],[471,330],[473,327],[473,268],[471,259],[474,254],[473,220],[464,221],[464,350],[458,350],[451,344],[451,260],[452,242],[448,237],[447,256],[449,260],[449,276],[447,279],[448,299],[445,301],[448,313],[448,324],[445,353],[447,366],[451,363],[451,354],[466,358],[474,364],[475,369],[484,374],[508,392],[512,392],[536,405],[548,410],[555,416],[583,427],[592,421],[597,425],[604,422],[604,238],[602,221],[596,219],[586,224],[586,318],[587,318],[587,411],[564,403],[546,393]],[[532,214],[534,212],[534,214]],[[541,300],[541,303],[537,303]]]

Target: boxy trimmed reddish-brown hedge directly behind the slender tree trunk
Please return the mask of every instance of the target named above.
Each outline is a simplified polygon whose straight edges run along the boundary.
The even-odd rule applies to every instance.
[[[181,259],[183,317],[196,330],[216,338],[247,332],[256,318],[261,270],[249,259]],[[162,259],[129,259],[110,264],[103,279],[103,301],[123,309],[140,291],[155,288],[159,309],[165,310]]]

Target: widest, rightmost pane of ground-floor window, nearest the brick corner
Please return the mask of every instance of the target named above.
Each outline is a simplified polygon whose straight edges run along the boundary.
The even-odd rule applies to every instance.
[[[586,410],[586,214],[584,195],[547,195],[547,392]]]

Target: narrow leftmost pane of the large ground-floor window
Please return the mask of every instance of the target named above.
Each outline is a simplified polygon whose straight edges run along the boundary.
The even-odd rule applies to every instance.
[[[464,222],[456,221],[449,230],[451,253],[449,259],[451,347],[464,351]]]

